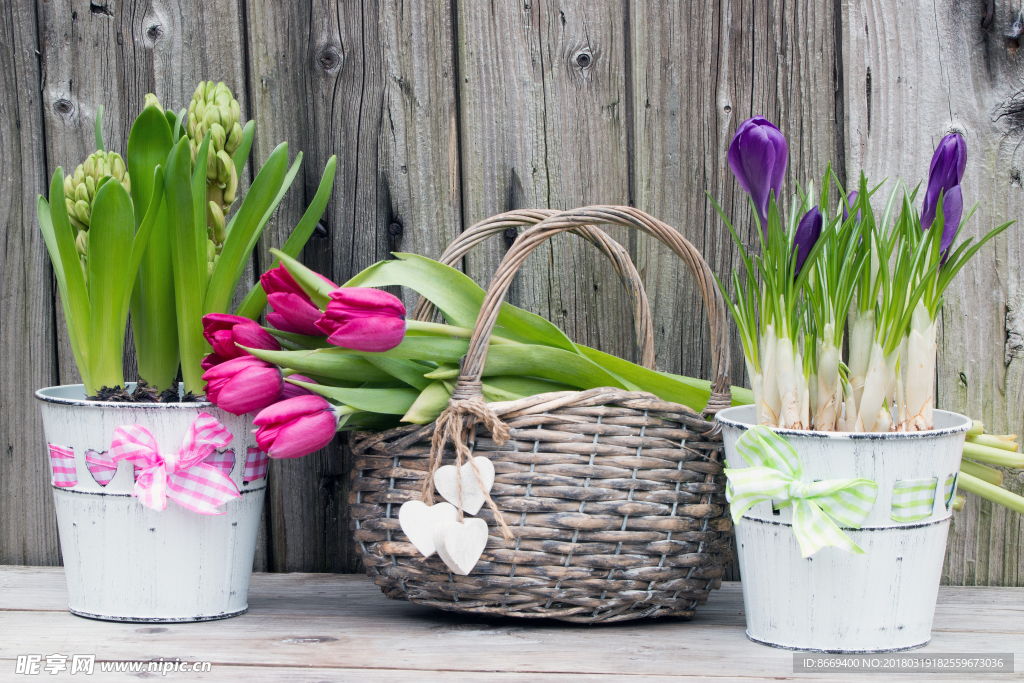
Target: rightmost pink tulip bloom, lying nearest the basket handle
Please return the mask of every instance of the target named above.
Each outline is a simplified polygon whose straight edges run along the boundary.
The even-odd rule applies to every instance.
[[[341,287],[316,327],[335,346],[356,351],[387,351],[406,335],[406,306],[387,292],[366,287]]]

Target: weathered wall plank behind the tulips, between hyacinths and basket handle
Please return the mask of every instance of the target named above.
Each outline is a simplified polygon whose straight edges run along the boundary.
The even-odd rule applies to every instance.
[[[305,252],[310,267],[342,283],[390,251],[439,255],[461,221],[447,2],[250,0],[248,13],[258,158],[281,139],[306,155],[304,182],[267,226],[261,263],[298,221],[332,154],[338,173],[326,237]],[[348,470],[343,439],[271,465],[273,569],[355,570]]]

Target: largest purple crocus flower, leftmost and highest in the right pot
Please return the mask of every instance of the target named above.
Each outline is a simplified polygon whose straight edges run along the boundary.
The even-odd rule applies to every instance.
[[[729,168],[739,185],[754,200],[761,229],[768,232],[768,203],[772,191],[778,202],[788,150],[785,136],[768,119],[756,116],[739,124],[729,144]]]

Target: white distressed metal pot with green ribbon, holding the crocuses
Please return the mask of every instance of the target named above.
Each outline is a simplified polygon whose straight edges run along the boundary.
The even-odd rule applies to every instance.
[[[736,440],[754,421],[754,408],[718,414],[729,467],[749,464]],[[878,497],[860,529],[844,529],[863,555],[833,547],[802,558],[792,508],[770,502],[751,508],[736,524],[746,635],[801,650],[885,652],[921,647],[932,617],[949,529],[944,483],[959,470],[971,420],[935,411],[935,429],[914,433],[836,433],[777,430],[796,449],[806,481],[862,477]],[[932,514],[919,521],[891,518],[897,481],[937,479]]]

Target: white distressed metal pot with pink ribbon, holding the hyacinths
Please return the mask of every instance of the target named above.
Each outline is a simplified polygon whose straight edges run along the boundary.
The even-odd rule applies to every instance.
[[[47,443],[74,452],[77,483],[52,486],[69,609],[119,622],[200,622],[245,612],[266,489],[265,474],[243,481],[250,450],[258,457],[252,416],[208,402],[84,400],[81,384],[40,389],[36,397]],[[86,452],[110,450],[118,427],[140,425],[162,454],[176,453],[202,413],[233,436],[226,451],[234,453],[230,477],[242,497],[220,507],[225,514],[199,514],[171,500],[163,511],[144,507],[131,495],[134,469],[125,461],[105,486],[90,472]]]

